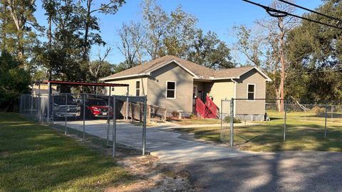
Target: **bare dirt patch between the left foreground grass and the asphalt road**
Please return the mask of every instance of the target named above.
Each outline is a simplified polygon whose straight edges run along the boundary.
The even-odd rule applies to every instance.
[[[190,183],[190,173],[182,166],[157,164],[155,156],[135,156],[118,160],[118,164],[136,176],[126,186],[107,188],[106,191],[201,191]]]

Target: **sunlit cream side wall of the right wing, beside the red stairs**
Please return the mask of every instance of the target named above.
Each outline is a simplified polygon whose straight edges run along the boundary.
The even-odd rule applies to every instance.
[[[209,91],[209,95],[212,96],[214,103],[217,107],[221,107],[221,100],[230,100],[234,97],[234,82],[231,80],[221,80],[213,82],[212,87]],[[220,112],[230,112],[230,102],[223,102],[222,110]]]

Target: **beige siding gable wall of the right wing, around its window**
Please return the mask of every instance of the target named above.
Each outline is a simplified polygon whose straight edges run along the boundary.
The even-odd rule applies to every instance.
[[[250,70],[248,73],[242,75],[237,80],[237,99],[247,99],[248,84],[255,85],[256,99],[264,99],[266,97],[266,80],[257,72],[257,70]],[[235,114],[264,114],[265,113],[265,100],[236,100]]]

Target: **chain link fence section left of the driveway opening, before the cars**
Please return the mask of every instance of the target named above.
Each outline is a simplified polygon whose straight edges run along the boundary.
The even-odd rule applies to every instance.
[[[93,94],[21,95],[20,113],[64,134],[117,151],[145,154],[146,97]]]

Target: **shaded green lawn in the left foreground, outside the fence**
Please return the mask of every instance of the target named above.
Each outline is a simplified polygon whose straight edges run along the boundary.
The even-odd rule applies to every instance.
[[[0,191],[103,191],[133,181],[113,159],[14,113],[0,113]]]

